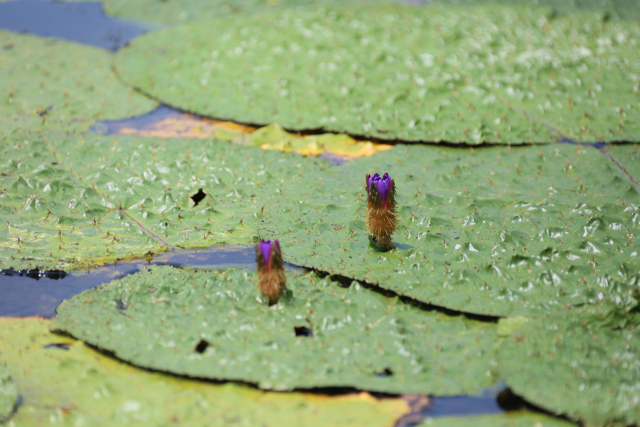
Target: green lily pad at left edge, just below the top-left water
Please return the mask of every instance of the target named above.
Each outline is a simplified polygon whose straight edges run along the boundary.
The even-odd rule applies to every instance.
[[[95,121],[146,113],[158,104],[118,81],[112,55],[55,39],[0,31],[0,113]]]

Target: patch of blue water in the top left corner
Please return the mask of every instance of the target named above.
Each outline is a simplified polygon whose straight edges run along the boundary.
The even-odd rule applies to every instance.
[[[105,15],[98,2],[45,0],[0,2],[0,28],[69,40],[112,52],[150,29],[148,25]]]

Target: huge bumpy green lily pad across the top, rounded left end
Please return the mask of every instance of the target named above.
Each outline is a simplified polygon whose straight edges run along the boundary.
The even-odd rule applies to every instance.
[[[292,130],[467,144],[637,140],[640,29],[597,13],[548,15],[274,9],[144,35],[115,65],[183,110]]]

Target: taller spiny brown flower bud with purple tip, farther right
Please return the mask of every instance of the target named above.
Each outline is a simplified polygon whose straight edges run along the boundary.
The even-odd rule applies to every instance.
[[[367,227],[379,246],[395,248],[391,235],[396,230],[396,185],[388,173],[367,174]]]

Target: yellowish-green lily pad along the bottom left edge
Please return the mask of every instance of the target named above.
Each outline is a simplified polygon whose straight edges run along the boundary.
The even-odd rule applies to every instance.
[[[131,367],[67,336],[42,319],[0,319],[0,361],[23,403],[10,424],[388,426],[407,412],[400,399],[265,393]],[[46,347],[48,346],[48,347]]]

